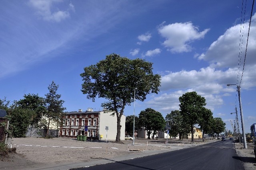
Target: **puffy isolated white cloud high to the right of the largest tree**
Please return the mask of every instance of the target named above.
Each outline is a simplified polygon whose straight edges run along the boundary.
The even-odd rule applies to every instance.
[[[204,35],[210,30],[205,29],[199,32],[198,27],[191,22],[163,24],[158,27],[158,32],[166,39],[163,45],[173,53],[190,52],[192,46],[189,44],[194,40],[204,38]]]

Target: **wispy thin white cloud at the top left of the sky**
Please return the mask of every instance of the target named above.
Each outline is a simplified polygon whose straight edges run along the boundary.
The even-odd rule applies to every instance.
[[[70,2],[69,9],[52,12],[51,8],[54,2],[61,2],[61,0],[30,0],[29,4],[37,10],[36,14],[46,21],[60,22],[70,16],[69,9],[74,11],[74,5]]]

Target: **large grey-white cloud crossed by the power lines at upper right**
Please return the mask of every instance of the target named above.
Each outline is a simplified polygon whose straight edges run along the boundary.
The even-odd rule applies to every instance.
[[[246,52],[246,66],[256,64],[254,54],[256,54],[256,14],[252,17],[248,47]],[[240,34],[240,24],[232,26],[226,32],[214,41],[208,50],[201,54],[198,59],[210,62],[213,68],[237,67],[240,60],[240,66],[243,67],[245,49],[249,23],[244,24],[244,29]],[[241,37],[241,42],[240,42]],[[238,58],[240,56],[240,59]]]

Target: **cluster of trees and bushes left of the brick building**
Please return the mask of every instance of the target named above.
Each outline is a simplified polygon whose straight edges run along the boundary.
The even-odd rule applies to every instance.
[[[64,101],[60,100],[61,95],[57,94],[58,85],[52,81],[48,90],[45,98],[38,94],[25,94],[23,99],[12,103],[6,98],[0,99],[0,108],[7,112],[9,132],[13,137],[25,137],[29,125],[47,129],[47,135],[50,122],[54,122],[56,127],[63,122],[66,108],[63,107]]]

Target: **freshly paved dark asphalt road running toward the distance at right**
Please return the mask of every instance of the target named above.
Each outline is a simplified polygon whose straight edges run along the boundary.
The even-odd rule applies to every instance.
[[[75,170],[244,170],[231,140]]]

